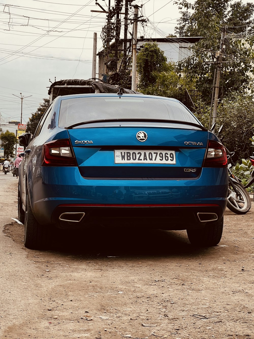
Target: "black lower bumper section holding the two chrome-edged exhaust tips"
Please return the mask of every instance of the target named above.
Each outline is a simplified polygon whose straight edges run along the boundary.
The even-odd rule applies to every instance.
[[[61,228],[85,228],[92,225],[117,228],[161,228],[186,230],[203,227],[207,220],[220,220],[219,205],[60,205],[52,221]],[[77,221],[81,219],[80,221]],[[68,221],[65,221],[68,220]],[[76,220],[76,221],[71,221]]]

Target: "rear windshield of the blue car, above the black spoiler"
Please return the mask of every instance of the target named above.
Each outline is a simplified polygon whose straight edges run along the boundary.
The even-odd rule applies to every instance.
[[[198,124],[177,101],[144,97],[81,97],[61,102],[59,127],[101,119],[163,119]]]

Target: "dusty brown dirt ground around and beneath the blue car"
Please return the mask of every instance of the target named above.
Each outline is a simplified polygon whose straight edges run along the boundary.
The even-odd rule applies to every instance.
[[[0,183],[1,339],[254,337],[254,207],[227,210],[211,248],[185,231],[117,229],[52,232],[49,251],[31,251],[11,219],[18,180]]]

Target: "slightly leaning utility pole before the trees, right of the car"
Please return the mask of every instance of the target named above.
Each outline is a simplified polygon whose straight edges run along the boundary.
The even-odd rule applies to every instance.
[[[219,96],[219,79],[220,79],[220,70],[221,70],[221,63],[222,63],[222,57],[223,53],[225,52],[225,36],[227,34],[227,28],[228,26],[224,26],[222,28],[221,32],[221,38],[220,38],[220,48],[219,51],[216,52],[216,57],[218,57],[217,60],[217,74],[216,74],[216,83],[215,83],[215,90],[214,90],[214,104],[213,104],[213,117],[212,117],[212,125],[214,124],[214,127],[211,132],[215,132],[215,123],[217,118],[217,107],[218,107],[218,96]],[[215,78],[215,76],[214,76]]]

